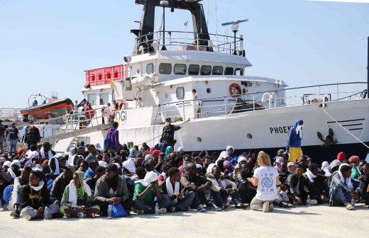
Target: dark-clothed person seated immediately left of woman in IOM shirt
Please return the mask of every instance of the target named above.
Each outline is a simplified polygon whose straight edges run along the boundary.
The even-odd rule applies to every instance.
[[[248,179],[253,177],[253,172],[250,171],[248,162],[241,162],[241,170],[238,171],[236,176],[236,184],[238,188],[238,194],[241,198],[241,204],[245,206],[246,203],[250,204],[251,200],[256,195],[256,188]],[[246,205],[247,207],[247,205]]]

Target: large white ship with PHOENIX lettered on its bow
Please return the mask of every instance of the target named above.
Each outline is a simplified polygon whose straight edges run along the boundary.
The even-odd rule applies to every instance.
[[[234,36],[216,35],[208,32],[200,1],[136,4],[143,5],[143,16],[140,28],[131,30],[136,34],[133,54],[123,64],[86,71],[81,91],[96,118],[79,131],[75,121],[66,120],[59,137],[53,137],[55,151],[67,151],[78,140],[102,145],[109,126],[101,123],[100,108],[116,100],[122,107],[115,112],[121,144],[156,145],[165,118],[171,118],[183,124],[175,132],[175,149],[211,152],[232,145],[236,154],[263,149],[274,155],[302,118],[302,150],[316,162],[335,159],[340,151],[348,157],[368,154],[361,143],[369,142],[366,82],[288,89],[279,79],[246,76],[252,64],[242,35],[236,35],[240,22],[230,23]],[[155,8],[190,11],[193,31],[165,30],[163,14],[163,26],[155,32]]]

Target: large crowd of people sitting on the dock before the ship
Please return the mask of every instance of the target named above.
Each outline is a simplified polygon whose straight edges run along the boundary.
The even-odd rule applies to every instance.
[[[346,159],[340,152],[333,162],[319,166],[307,155],[292,161],[284,149],[270,155],[235,154],[231,145],[220,153],[175,151],[170,143],[174,138],[165,138],[180,127],[170,120],[155,147],[143,143],[128,148],[114,139],[116,128],[113,123],[108,131],[106,149],[80,142],[60,154],[45,142],[3,152],[0,210],[8,204],[11,217],[31,220],[111,216],[112,206],[124,215],[142,215],[231,207],[269,212],[275,206],[322,203],[354,210],[356,203],[369,205],[369,164],[355,155]]]

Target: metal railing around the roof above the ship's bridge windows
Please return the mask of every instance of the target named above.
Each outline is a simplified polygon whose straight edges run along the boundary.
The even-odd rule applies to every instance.
[[[209,34],[210,40],[199,38],[199,33],[189,31],[158,31],[136,38],[137,49],[133,55],[141,55],[154,50],[161,50],[163,46],[167,50],[197,50],[226,52],[230,54],[243,55],[243,38],[235,38],[229,35]],[[155,38],[156,36],[156,38]],[[163,38],[167,43],[163,44]],[[140,43],[148,45],[140,49]]]

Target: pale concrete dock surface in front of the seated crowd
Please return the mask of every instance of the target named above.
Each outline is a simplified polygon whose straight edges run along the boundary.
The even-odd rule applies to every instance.
[[[0,212],[1,238],[16,237],[366,237],[369,208],[356,210],[327,205],[260,210],[234,210],[199,213],[167,213],[160,216],[136,215],[94,219],[31,220]]]

